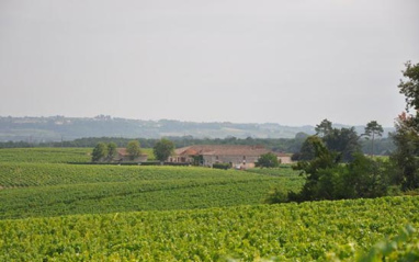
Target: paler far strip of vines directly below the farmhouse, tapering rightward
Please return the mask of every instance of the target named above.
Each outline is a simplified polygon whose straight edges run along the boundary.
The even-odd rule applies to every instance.
[[[0,164],[2,187],[45,186],[99,182],[129,182],[177,179],[253,179],[268,178],[237,170],[217,170],[193,167],[126,167],[77,166],[64,163],[3,163]],[[296,175],[294,175],[297,178]]]

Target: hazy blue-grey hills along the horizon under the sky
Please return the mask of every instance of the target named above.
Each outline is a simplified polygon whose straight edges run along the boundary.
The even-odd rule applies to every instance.
[[[343,125],[335,125],[343,126]],[[358,134],[364,127],[356,126]],[[384,128],[384,136],[394,128]],[[99,115],[95,117],[13,117],[0,116],[0,141],[59,141],[82,137],[160,138],[294,138],[298,133],[315,134],[314,126],[285,126],[274,123],[143,121]]]

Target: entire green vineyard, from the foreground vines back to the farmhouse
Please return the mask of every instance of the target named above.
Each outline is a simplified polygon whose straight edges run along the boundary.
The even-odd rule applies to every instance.
[[[406,225],[419,229],[414,196],[261,205],[273,186],[302,187],[290,167],[66,163],[89,158],[0,150],[0,261],[354,261]],[[380,246],[387,261],[415,255],[418,232],[405,240]]]

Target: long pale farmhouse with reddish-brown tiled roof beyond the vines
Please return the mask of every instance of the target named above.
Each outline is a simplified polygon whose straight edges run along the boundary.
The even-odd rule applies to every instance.
[[[214,163],[230,163],[231,167],[253,168],[259,157],[270,152],[261,146],[196,145],[174,150],[169,162],[197,163],[213,167]]]

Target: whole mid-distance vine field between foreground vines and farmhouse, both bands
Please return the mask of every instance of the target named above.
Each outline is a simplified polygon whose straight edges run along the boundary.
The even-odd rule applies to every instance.
[[[194,167],[4,163],[0,219],[254,205],[274,184],[298,191],[302,183],[293,172],[273,176]]]

